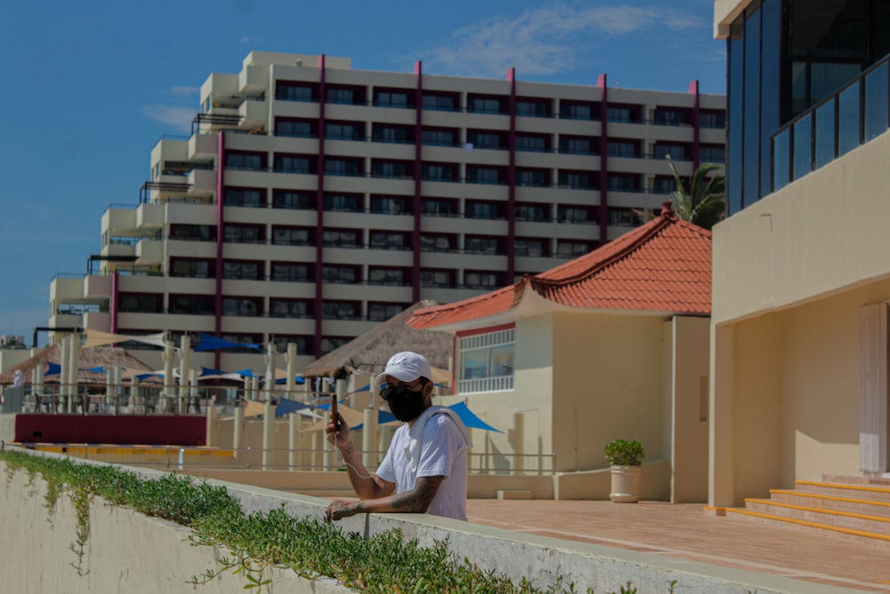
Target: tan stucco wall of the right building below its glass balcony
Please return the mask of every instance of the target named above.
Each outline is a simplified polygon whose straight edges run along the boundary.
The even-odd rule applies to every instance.
[[[890,134],[714,229],[712,505],[857,475],[859,309],[890,299]]]

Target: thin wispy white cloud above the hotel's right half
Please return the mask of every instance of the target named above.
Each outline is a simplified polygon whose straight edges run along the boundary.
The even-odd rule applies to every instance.
[[[499,77],[511,66],[525,76],[549,76],[574,69],[578,49],[594,35],[614,38],[701,24],[698,17],[663,6],[554,5],[457,29],[452,44],[424,53],[424,61],[432,69],[461,76]]]

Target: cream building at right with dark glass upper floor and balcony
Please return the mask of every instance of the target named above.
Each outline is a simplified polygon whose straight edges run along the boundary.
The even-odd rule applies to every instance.
[[[872,2],[783,4],[715,4],[731,216],[713,236],[712,506],[890,470],[890,28]]]

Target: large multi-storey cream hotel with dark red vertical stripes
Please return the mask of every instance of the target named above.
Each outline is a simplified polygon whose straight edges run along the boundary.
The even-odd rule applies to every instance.
[[[138,203],[104,213],[85,276],[53,280],[50,327],[293,342],[302,366],[421,299],[473,297],[619,237],[674,190],[667,154],[681,175],[723,163],[724,114],[696,82],[667,93],[252,52],[207,77],[188,138],[152,149]]]

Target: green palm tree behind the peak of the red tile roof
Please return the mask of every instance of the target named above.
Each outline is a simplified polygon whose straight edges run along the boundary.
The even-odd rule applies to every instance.
[[[708,176],[720,167],[713,163],[700,165],[692,174],[692,185],[687,192],[676,172],[674,159],[670,155],[665,155],[665,159],[676,183],[676,190],[671,192],[676,216],[708,230],[722,221],[726,207],[726,177],[720,174]]]

